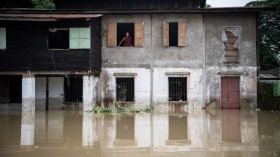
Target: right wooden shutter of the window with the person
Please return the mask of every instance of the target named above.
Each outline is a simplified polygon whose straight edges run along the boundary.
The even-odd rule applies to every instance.
[[[144,22],[138,22],[134,24],[135,35],[134,35],[134,46],[144,46]]]

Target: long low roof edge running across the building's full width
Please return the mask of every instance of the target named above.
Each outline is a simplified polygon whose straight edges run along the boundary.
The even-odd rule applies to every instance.
[[[164,14],[164,13],[258,13],[274,11],[275,8],[233,7],[210,9],[178,9],[178,10],[53,10],[53,9],[0,9],[0,20],[14,21],[55,21],[59,19],[95,18],[103,14]]]

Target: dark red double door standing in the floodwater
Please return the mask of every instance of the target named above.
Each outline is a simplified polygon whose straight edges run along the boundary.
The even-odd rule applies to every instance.
[[[222,77],[221,78],[221,100],[223,109],[240,108],[240,86],[239,77]]]

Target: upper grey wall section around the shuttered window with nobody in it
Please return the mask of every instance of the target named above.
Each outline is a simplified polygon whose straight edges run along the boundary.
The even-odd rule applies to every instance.
[[[204,32],[201,14],[156,14],[152,21],[155,67],[202,68]],[[163,46],[163,22],[187,22],[187,46]],[[146,29],[146,27],[145,27]],[[146,36],[145,36],[146,38]]]

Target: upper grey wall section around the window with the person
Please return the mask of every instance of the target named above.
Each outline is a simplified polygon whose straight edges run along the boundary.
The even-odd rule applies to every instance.
[[[107,47],[107,23],[144,22],[143,47]],[[103,67],[149,67],[151,53],[151,20],[149,15],[105,15],[102,18],[102,65]],[[117,43],[119,44],[119,43]]]

